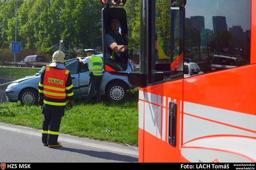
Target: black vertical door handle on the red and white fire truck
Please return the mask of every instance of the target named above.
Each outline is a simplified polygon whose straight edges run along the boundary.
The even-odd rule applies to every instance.
[[[169,127],[168,127],[168,142],[172,146],[176,146],[176,103],[169,103]]]

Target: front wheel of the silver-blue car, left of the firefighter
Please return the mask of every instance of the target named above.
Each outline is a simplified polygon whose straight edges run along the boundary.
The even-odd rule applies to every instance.
[[[34,89],[25,89],[20,93],[20,103],[22,105],[36,105],[38,103],[38,93]]]

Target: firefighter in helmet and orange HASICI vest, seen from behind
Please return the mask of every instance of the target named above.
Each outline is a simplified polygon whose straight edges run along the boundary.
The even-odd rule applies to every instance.
[[[68,109],[73,106],[73,84],[70,72],[64,64],[65,54],[58,50],[52,55],[52,63],[46,65],[38,84],[38,103],[43,106],[42,142],[44,146],[58,147],[61,117],[68,101]]]

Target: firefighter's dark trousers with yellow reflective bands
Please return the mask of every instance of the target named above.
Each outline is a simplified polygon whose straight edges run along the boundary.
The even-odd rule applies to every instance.
[[[44,114],[42,127],[42,142],[48,145],[57,145],[61,117],[64,116],[63,110],[48,110],[43,108]]]

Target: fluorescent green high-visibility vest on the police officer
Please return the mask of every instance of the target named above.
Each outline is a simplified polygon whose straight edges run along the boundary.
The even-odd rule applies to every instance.
[[[96,76],[103,75],[103,72],[102,72],[103,61],[102,61],[102,59],[100,57],[96,57],[96,56],[93,56],[93,55],[91,55],[89,57],[89,59],[90,59],[90,62],[91,62],[91,67],[92,67],[92,69],[91,69],[88,65],[89,71],[92,72],[92,74],[96,75]]]

